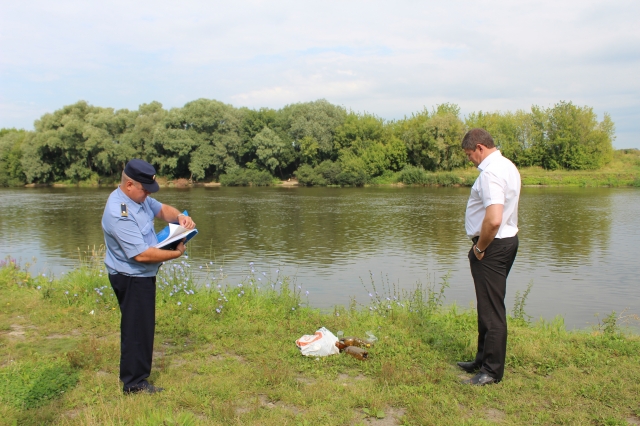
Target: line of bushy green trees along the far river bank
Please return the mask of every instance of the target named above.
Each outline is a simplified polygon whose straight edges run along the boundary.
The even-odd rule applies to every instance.
[[[472,127],[487,129],[517,166],[598,169],[612,159],[615,137],[608,114],[598,121],[591,107],[571,102],[466,117],[445,103],[384,120],[326,100],[254,110],[198,99],[133,111],[79,101],[34,127],[0,130],[0,186],[117,179],[131,158],[168,179],[233,184],[297,176],[309,185],[362,185],[407,168],[468,167],[460,141]]]

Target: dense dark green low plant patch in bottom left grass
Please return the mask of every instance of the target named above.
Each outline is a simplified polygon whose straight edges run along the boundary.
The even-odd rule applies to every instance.
[[[78,382],[78,373],[60,360],[9,364],[0,368],[0,401],[30,409],[58,398]]]

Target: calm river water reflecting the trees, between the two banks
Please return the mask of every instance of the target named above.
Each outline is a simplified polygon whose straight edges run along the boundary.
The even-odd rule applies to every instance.
[[[0,256],[35,256],[54,272],[73,266],[78,248],[103,243],[110,192],[1,189]],[[253,261],[295,277],[314,306],[330,307],[350,296],[365,301],[370,271],[400,287],[450,272],[447,302],[468,306],[475,300],[464,232],[468,195],[468,188],[194,188],[163,189],[157,198],[190,211],[200,231],[191,260],[215,260],[232,283]],[[596,312],[637,309],[638,211],[633,189],[524,188],[507,302],[533,280],[527,311],[535,318],[561,314],[582,327]]]

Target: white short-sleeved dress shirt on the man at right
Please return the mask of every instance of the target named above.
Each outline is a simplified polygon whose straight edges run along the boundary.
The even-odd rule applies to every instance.
[[[480,235],[487,207],[504,205],[502,223],[496,238],[509,238],[518,233],[518,200],[520,199],[520,173],[516,166],[500,151],[489,154],[478,165],[480,176],[471,187],[464,225],[469,238]]]

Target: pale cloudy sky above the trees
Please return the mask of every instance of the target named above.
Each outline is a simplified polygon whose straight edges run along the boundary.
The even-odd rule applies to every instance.
[[[0,0],[0,128],[85,100],[326,99],[385,119],[560,101],[640,148],[640,2]]]

